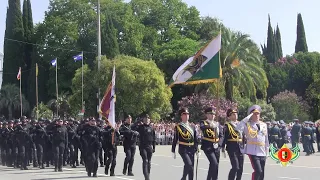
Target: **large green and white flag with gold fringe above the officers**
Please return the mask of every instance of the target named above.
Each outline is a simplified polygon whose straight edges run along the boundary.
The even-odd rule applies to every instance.
[[[174,84],[215,82],[221,78],[220,49],[221,33],[177,69],[172,76],[169,87]]]

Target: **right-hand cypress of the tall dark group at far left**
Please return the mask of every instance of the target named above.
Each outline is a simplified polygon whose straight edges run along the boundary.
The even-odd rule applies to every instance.
[[[32,9],[31,9],[31,3],[30,0],[24,0],[23,1],[23,14],[22,14],[22,22],[23,22],[23,29],[24,29],[24,38],[25,41],[28,42],[24,46],[24,73],[22,76],[24,77],[22,79],[23,84],[23,94],[26,95],[26,98],[30,102],[30,98],[28,97],[29,88],[30,88],[30,72],[31,72],[31,63],[32,63],[32,53],[33,53],[33,18],[32,18]]]

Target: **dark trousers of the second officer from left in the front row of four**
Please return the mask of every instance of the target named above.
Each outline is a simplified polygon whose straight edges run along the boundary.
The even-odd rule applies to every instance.
[[[210,148],[203,151],[210,162],[207,180],[217,180],[220,160],[220,149]]]

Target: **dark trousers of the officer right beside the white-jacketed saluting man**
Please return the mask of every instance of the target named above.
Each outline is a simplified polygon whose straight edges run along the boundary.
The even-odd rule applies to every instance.
[[[228,152],[231,166],[228,180],[241,180],[242,172],[243,172],[243,161],[244,157],[243,154],[240,151],[233,151]]]

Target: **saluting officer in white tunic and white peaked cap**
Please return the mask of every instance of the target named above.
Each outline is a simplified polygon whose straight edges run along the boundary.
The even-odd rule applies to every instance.
[[[254,172],[252,180],[263,180],[266,159],[269,152],[268,128],[260,121],[261,107],[253,105],[248,109],[248,116],[237,126],[245,134],[246,147],[244,154],[249,156]]]

